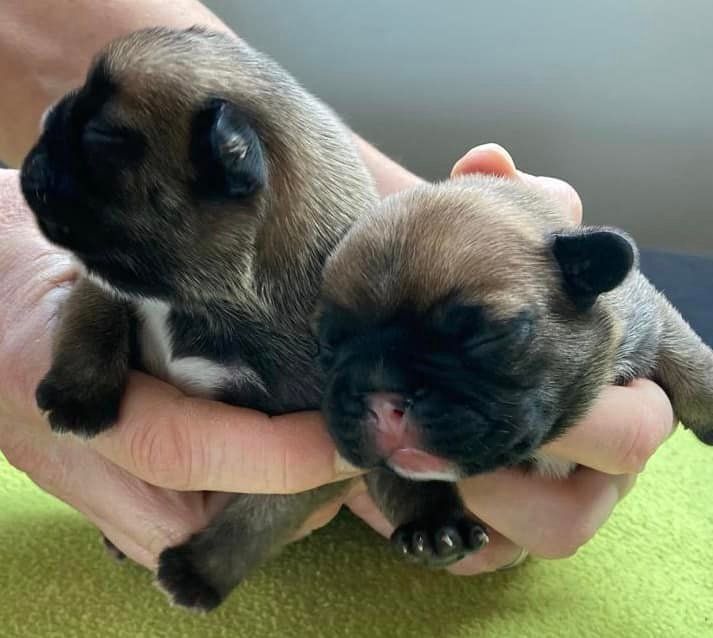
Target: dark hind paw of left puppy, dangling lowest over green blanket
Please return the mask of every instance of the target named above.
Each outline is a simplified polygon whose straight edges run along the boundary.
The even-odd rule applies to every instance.
[[[193,611],[211,611],[222,597],[195,569],[186,545],[169,547],[158,558],[158,586],[171,602]]]

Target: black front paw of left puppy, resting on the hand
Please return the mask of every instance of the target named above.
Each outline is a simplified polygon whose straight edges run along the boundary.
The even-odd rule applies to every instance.
[[[116,423],[123,388],[79,386],[50,371],[40,382],[35,399],[54,432],[91,438]]]

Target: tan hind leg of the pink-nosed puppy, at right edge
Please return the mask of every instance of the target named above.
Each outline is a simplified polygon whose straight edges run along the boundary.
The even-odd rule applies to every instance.
[[[657,293],[662,333],[654,379],[684,426],[713,445],[713,351]]]

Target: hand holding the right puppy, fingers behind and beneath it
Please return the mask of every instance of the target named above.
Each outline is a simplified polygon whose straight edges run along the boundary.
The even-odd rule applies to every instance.
[[[581,221],[582,204],[571,186],[518,171],[499,146],[471,150],[451,175],[469,173],[500,175],[544,189],[563,203],[573,221]],[[463,500],[488,526],[490,542],[450,571],[477,574],[512,567],[528,552],[543,558],[572,555],[605,523],[673,426],[671,405],[656,384],[637,380],[627,387],[608,387],[581,423],[545,446],[548,455],[580,465],[569,478],[554,480],[507,469],[462,481]],[[347,505],[390,536],[393,527],[363,487],[352,493]]]

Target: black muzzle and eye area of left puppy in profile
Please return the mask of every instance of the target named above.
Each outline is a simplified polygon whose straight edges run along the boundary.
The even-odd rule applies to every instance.
[[[86,86],[62,98],[46,113],[21,172],[23,194],[42,232],[89,258],[103,256],[124,239],[121,209],[128,202],[118,192],[119,174],[136,170],[146,152],[141,133],[102,118],[114,93],[109,78],[95,73]]]

